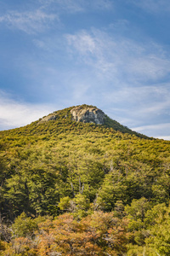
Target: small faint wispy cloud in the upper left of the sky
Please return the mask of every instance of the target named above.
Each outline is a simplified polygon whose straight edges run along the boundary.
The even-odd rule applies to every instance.
[[[47,14],[41,9],[25,12],[8,11],[6,15],[0,16],[0,23],[28,34],[43,32],[54,20],[59,20],[58,15]]]

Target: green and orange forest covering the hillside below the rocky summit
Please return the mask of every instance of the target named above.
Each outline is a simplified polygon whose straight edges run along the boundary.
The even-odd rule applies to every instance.
[[[0,131],[0,255],[170,255],[170,142],[57,116]]]

